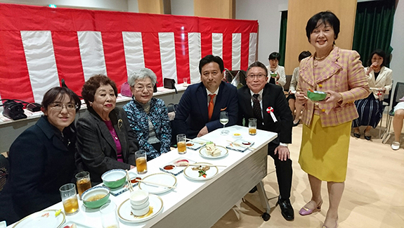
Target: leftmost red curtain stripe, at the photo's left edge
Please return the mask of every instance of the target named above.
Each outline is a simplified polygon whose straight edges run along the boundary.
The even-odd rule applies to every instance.
[[[34,102],[31,88],[20,32],[0,31],[1,99]]]

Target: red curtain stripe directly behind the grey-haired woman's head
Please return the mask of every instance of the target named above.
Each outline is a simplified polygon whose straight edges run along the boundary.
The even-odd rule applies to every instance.
[[[157,87],[162,87],[163,74],[160,57],[159,34],[155,32],[142,32],[142,40],[145,67],[155,72],[157,76]]]

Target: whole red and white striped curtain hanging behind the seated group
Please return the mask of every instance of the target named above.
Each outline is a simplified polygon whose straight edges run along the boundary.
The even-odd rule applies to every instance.
[[[256,20],[0,4],[0,98],[40,103],[62,79],[81,94],[95,74],[120,87],[145,67],[159,86],[166,77],[195,83],[208,54],[229,70],[247,70],[257,30]]]

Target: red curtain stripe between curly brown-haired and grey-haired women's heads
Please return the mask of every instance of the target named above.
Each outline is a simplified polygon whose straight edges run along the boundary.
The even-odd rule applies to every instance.
[[[121,85],[128,80],[122,32],[101,32],[107,75],[115,81],[118,92]]]

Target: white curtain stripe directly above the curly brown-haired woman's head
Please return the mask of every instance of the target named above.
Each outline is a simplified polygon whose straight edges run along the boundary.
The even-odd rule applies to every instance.
[[[84,80],[89,80],[93,75],[107,75],[101,32],[77,32],[77,37],[80,56],[82,56]]]

